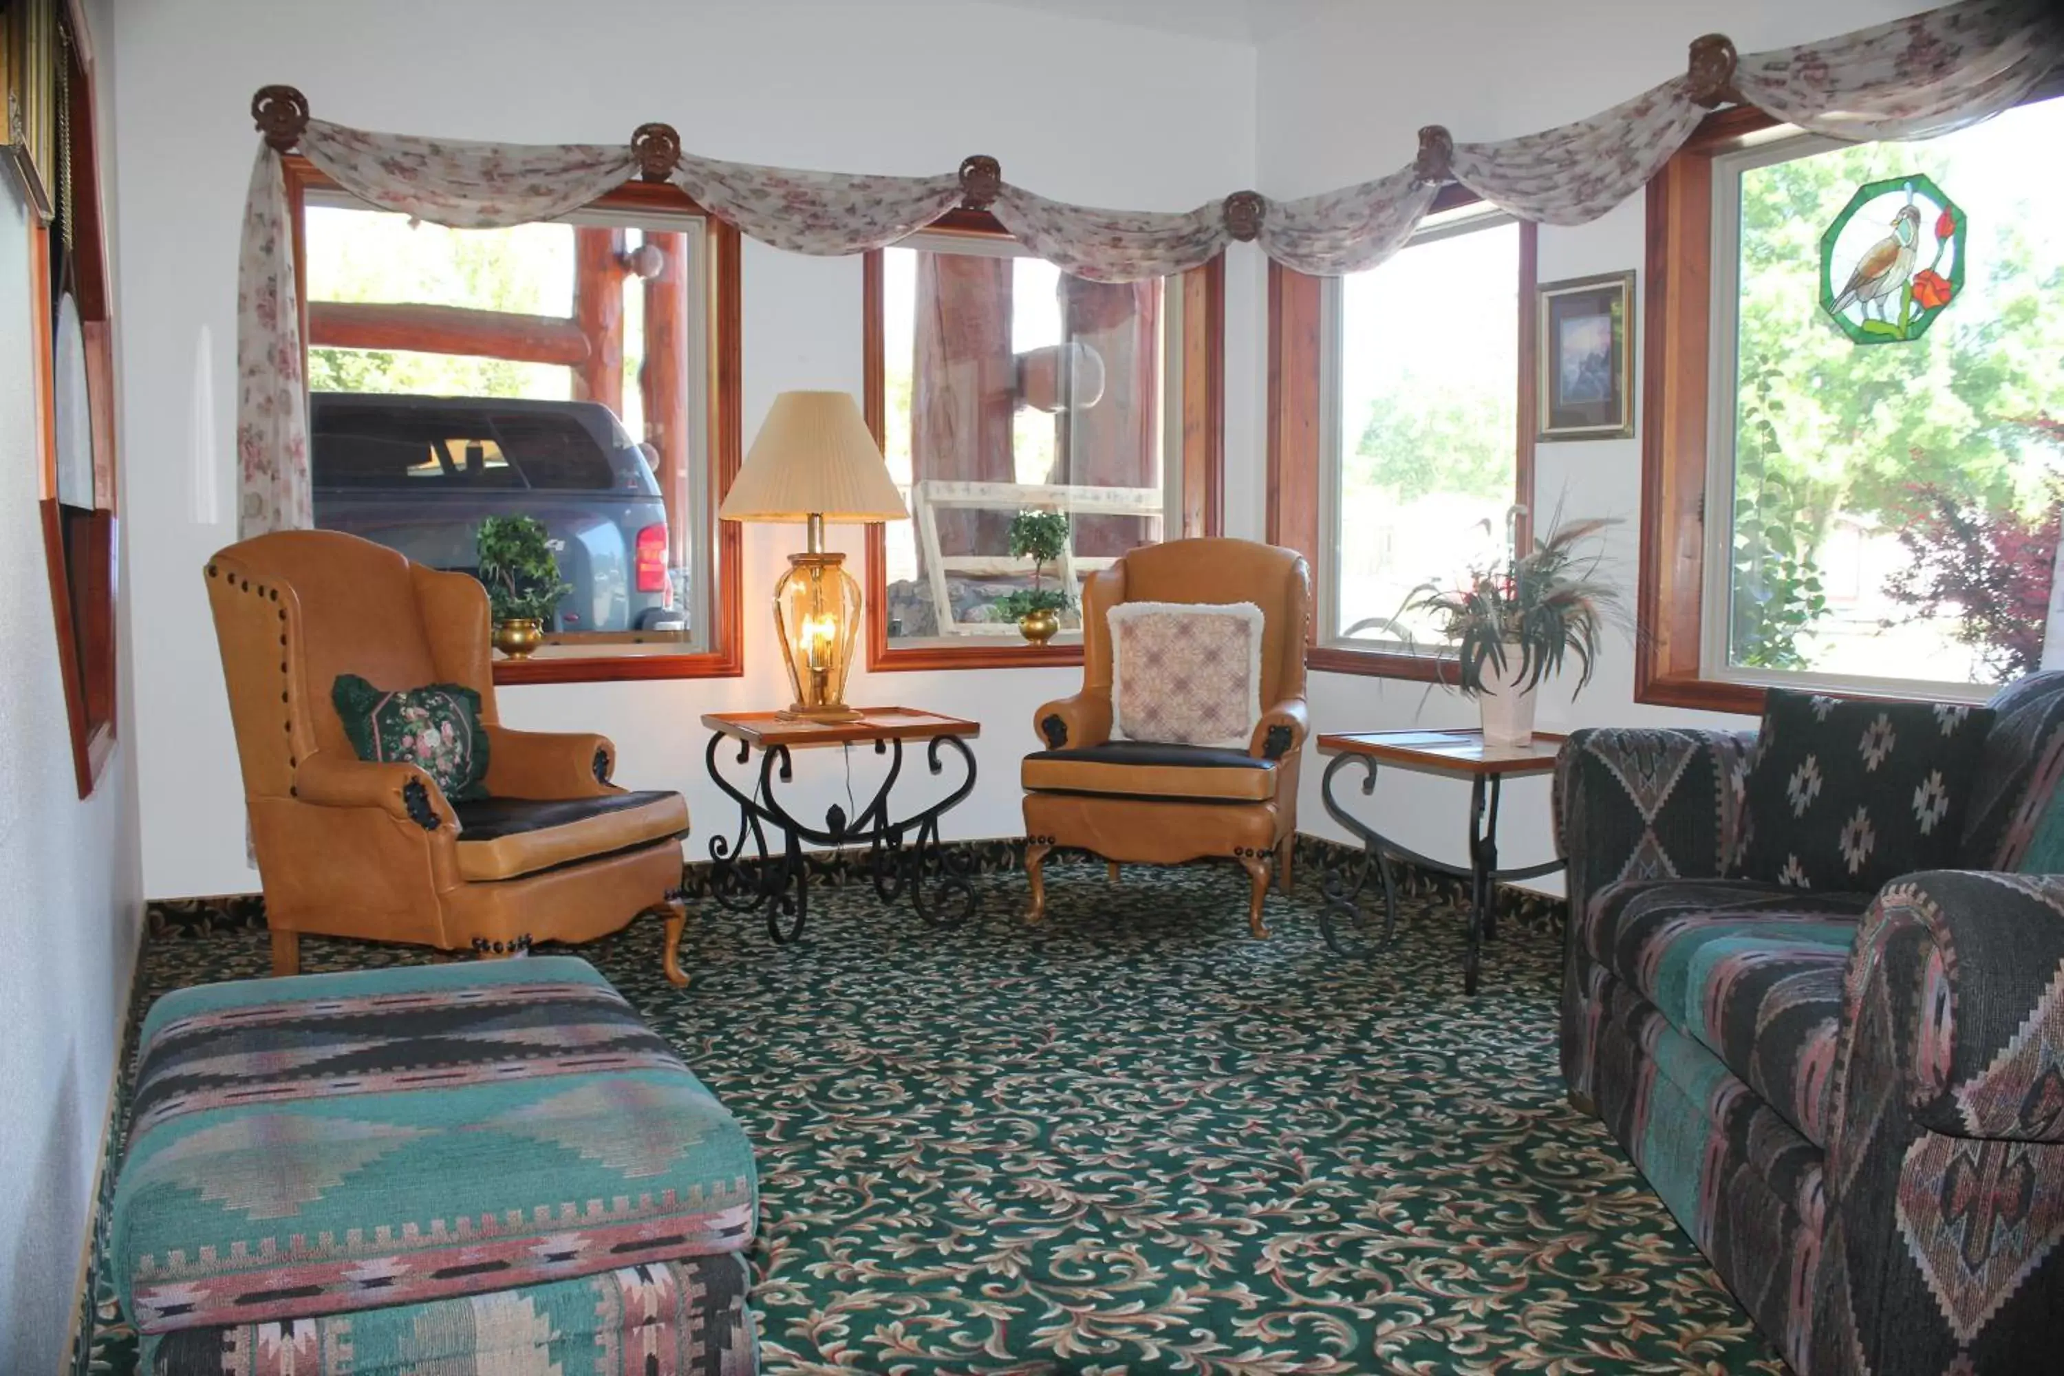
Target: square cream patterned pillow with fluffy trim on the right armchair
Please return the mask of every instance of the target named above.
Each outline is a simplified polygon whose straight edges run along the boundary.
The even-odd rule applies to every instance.
[[[1261,609],[1110,609],[1110,736],[1247,749],[1261,720]]]

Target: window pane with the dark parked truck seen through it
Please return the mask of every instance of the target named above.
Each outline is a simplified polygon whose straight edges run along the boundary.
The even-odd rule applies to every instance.
[[[528,516],[559,642],[706,646],[702,239],[590,221],[308,206],[316,524],[477,574],[481,522]]]

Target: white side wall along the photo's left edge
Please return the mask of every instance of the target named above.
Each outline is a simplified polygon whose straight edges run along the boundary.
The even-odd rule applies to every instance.
[[[0,1372],[52,1372],[78,1302],[142,906],[128,673],[122,745],[93,798],[72,776],[37,514],[29,219],[19,184],[0,182]]]

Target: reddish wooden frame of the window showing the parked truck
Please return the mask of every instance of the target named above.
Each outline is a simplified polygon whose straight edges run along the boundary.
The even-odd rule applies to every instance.
[[[295,295],[301,312],[301,375],[308,375],[308,245],[305,217],[308,192],[343,192],[343,188],[316,169],[301,155],[285,155],[287,206],[293,217],[293,268]],[[741,419],[741,274],[739,274],[739,231],[729,221],[698,206],[685,192],[671,184],[625,182],[586,206],[590,210],[667,212],[698,215],[708,221],[710,245],[710,309],[714,332],[710,365],[708,404],[708,510],[716,512],[731,481],[739,474],[743,460],[743,419]],[[710,598],[716,625],[710,633],[710,648],[689,654],[582,654],[551,656],[530,660],[499,658],[493,664],[495,685],[516,683],[623,683],[644,679],[735,679],[745,673],[745,557],[743,536],[737,522],[718,520],[716,557],[710,561],[716,571],[716,596]]]

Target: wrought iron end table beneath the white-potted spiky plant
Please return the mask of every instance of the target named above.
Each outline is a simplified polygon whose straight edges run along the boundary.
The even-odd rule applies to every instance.
[[[1534,732],[1531,745],[1484,745],[1482,730],[1362,730],[1319,736],[1319,753],[1333,755],[1319,782],[1319,796],[1327,815],[1362,840],[1362,854],[1356,862],[1327,864],[1319,879],[1325,902],[1319,906],[1319,930],[1340,955],[1370,955],[1379,947],[1389,947],[1397,935],[1397,885],[1391,879],[1391,856],[1430,869],[1439,875],[1453,875],[1470,881],[1470,953],[1461,972],[1463,992],[1474,994],[1482,970],[1484,941],[1498,935],[1496,885],[1507,879],[1536,879],[1562,869],[1562,860],[1527,864],[1521,869],[1498,869],[1498,794],[1507,776],[1548,774],[1554,769],[1556,751],[1562,736],[1546,730]],[[1377,765],[1387,763],[1414,774],[1445,774],[1470,780],[1470,864],[1447,864],[1406,850],[1397,842],[1381,836],[1375,827],[1348,815],[1333,794],[1333,780],[1340,772],[1358,765],[1362,769],[1362,794],[1377,790]],[[1364,914],[1356,899],[1368,885],[1375,871],[1383,881],[1383,939],[1362,943],[1350,951],[1342,943],[1342,932],[1333,918],[1346,918],[1354,928],[1364,926]]]

